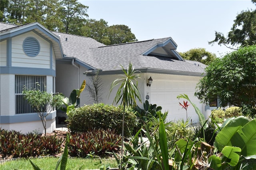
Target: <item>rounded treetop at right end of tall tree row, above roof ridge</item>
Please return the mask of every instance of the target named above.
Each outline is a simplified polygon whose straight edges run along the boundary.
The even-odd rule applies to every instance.
[[[113,25],[108,28],[107,35],[110,44],[128,43],[138,41],[131,29],[126,25]]]

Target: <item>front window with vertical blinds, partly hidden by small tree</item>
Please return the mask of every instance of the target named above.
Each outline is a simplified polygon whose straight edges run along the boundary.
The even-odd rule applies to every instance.
[[[39,83],[40,86],[36,85]],[[34,113],[34,109],[23,99],[23,88],[46,91],[46,76],[15,75],[16,114]]]

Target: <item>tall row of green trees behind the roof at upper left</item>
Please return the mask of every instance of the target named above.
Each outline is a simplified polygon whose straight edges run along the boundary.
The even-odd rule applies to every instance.
[[[0,22],[39,22],[48,30],[87,36],[106,45],[138,41],[128,26],[87,19],[88,8],[78,0],[1,0]]]

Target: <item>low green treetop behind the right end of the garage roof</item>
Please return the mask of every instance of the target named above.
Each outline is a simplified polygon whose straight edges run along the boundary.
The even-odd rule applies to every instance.
[[[206,51],[205,48],[194,48],[184,53],[179,52],[179,54],[184,59],[198,61],[206,65],[209,65],[210,62],[216,59],[216,54]]]

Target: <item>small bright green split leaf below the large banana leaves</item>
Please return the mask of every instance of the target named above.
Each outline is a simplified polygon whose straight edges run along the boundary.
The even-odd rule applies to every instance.
[[[221,153],[229,159],[227,162],[231,166],[236,166],[238,163],[240,159],[240,154],[238,154],[239,152],[241,152],[241,148],[234,146],[225,146],[221,151]]]

